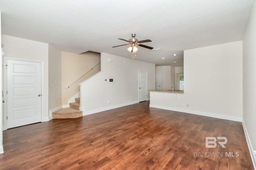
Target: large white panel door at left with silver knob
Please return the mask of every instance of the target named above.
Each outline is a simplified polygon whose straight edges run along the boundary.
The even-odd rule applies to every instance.
[[[41,122],[41,63],[7,59],[7,128]]]

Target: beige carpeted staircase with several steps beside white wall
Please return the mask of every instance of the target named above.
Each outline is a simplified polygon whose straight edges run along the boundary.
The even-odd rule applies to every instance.
[[[80,98],[75,98],[75,102],[70,103],[69,107],[63,108],[52,113],[52,119],[70,119],[83,116],[83,111],[79,110]]]

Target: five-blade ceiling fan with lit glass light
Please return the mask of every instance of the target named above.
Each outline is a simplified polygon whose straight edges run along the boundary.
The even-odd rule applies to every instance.
[[[126,39],[122,39],[122,38],[118,38],[118,39],[128,42],[128,44],[124,44],[124,45],[131,45],[127,49],[131,53],[136,53],[138,51],[138,48],[135,45],[138,45],[140,47],[144,47],[144,48],[147,48],[147,49],[151,49],[151,50],[153,49],[153,47],[149,47],[149,46],[140,44],[140,43],[151,42],[150,39],[145,39],[145,40],[142,40],[142,41],[138,41],[138,39],[136,39],[135,36],[136,36],[136,34],[133,33],[132,34],[132,39],[129,39],[129,41],[126,40]],[[118,45],[118,46],[114,46],[114,47],[120,47],[120,46],[123,46],[123,45]]]

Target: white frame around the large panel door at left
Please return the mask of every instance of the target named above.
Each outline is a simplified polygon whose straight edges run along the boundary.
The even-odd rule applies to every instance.
[[[43,61],[38,61],[38,60],[30,60],[30,59],[19,59],[19,58],[12,58],[12,57],[4,57],[4,83],[3,83],[3,100],[5,101],[4,102],[4,114],[3,114],[3,130],[6,130],[7,129],[7,96],[6,96],[6,91],[7,91],[7,71],[6,71],[6,65],[7,65],[7,60],[16,60],[16,61],[30,61],[30,62],[36,62],[36,63],[41,63],[41,90],[42,90],[42,94],[44,94],[44,62]],[[44,120],[44,95],[42,95],[42,100],[41,100],[41,122],[43,122]]]

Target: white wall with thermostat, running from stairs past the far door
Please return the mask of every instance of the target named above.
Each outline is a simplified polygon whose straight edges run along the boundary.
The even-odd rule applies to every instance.
[[[138,70],[147,71],[148,90],[155,89],[155,64],[101,53],[101,72],[80,86],[83,114],[138,103]],[[109,82],[110,78],[113,82]]]

